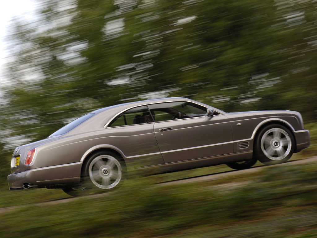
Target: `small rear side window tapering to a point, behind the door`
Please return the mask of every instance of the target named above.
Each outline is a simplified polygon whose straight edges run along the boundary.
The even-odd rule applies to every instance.
[[[146,106],[141,106],[121,113],[109,123],[108,127],[126,126],[148,122],[153,122],[152,116]]]

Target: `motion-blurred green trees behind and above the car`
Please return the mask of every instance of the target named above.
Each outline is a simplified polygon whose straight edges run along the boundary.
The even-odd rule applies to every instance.
[[[16,21],[8,37],[1,152],[91,110],[163,96],[296,110],[314,130],[314,1],[39,3],[36,22]]]

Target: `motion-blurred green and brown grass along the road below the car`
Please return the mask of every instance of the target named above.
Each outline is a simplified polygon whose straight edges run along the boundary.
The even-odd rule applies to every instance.
[[[268,166],[251,174],[169,186],[155,183],[174,174],[131,179],[109,194],[0,210],[0,236],[314,237],[316,165]],[[2,207],[67,197],[46,189],[9,195],[11,204],[3,203],[9,199],[4,197]]]

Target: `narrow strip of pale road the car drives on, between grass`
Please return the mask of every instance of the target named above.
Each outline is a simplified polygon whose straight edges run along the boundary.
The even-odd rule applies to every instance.
[[[289,166],[289,165],[295,165],[295,164],[309,164],[309,163],[313,163],[313,162],[317,162],[317,156],[310,157],[307,159],[288,161],[288,162],[283,163],[283,164],[270,165],[269,167]],[[157,186],[166,186],[166,185],[174,185],[174,184],[184,184],[184,183],[191,183],[191,182],[217,180],[217,179],[225,178],[227,176],[235,176],[235,175],[241,175],[241,174],[255,173],[255,172],[258,172],[258,171],[260,171],[264,168],[267,168],[267,167],[268,166],[263,165],[263,166],[256,166],[256,167],[252,167],[250,169],[244,169],[244,170],[229,170],[229,171],[210,174],[210,175],[195,176],[195,177],[190,177],[190,178],[185,178],[185,179],[163,182],[163,183],[157,184]],[[112,192],[107,193],[107,194],[104,194],[104,193],[103,194],[94,194],[94,195],[87,195],[87,196],[82,196],[82,197],[88,197],[88,196],[90,198],[100,197],[100,196],[110,195],[111,193]],[[39,205],[39,206],[54,205],[54,204],[60,204],[60,203],[65,203],[65,202],[72,202],[76,199],[78,199],[78,197],[68,197],[68,198],[63,198],[63,199],[58,199],[58,200],[40,202],[40,203],[37,203],[37,205]],[[14,210],[16,208],[27,207],[29,205],[30,204],[25,204],[25,205],[13,206],[13,207],[1,208],[0,214],[3,212]],[[35,204],[32,204],[32,205],[35,205]]]

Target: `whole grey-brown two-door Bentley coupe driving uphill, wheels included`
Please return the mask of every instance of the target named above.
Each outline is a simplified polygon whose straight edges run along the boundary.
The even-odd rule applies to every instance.
[[[309,144],[299,112],[226,113],[187,98],[153,99],[95,110],[17,147],[8,183],[10,190],[62,188],[77,195],[84,180],[106,191],[131,169],[168,172],[223,163],[245,169],[257,160],[285,162]]]

